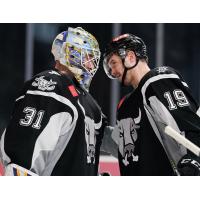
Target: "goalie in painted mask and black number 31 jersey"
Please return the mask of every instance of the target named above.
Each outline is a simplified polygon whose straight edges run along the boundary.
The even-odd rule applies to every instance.
[[[6,175],[97,175],[102,112],[88,93],[100,60],[84,29],[68,28],[52,45],[55,69],[26,82],[1,138]]]

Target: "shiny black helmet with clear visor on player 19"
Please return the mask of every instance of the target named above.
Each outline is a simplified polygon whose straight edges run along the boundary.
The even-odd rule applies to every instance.
[[[113,54],[118,54],[122,60],[126,57],[126,51],[132,50],[135,52],[135,55],[137,59],[145,59],[148,60],[147,57],[147,49],[146,45],[143,42],[143,40],[133,34],[123,34],[116,38],[114,38],[106,47],[104,52],[104,61],[103,66],[106,74],[109,78],[114,78],[111,73],[108,66],[109,58]]]

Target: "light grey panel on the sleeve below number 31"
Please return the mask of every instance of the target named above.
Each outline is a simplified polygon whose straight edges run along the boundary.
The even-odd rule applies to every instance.
[[[74,127],[74,121],[72,121],[69,113],[58,113],[50,118],[49,123],[35,143],[31,164],[31,169],[34,172],[37,172],[39,175],[42,175],[42,173],[50,175],[56,161],[68,144]],[[62,140],[59,140],[61,136]],[[61,145],[60,142],[66,142],[66,144]]]

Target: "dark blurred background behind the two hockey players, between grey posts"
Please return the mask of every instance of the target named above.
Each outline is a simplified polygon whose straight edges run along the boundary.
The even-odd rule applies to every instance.
[[[133,33],[143,38],[147,45],[149,66],[156,67],[156,23],[123,23],[121,33]],[[81,26],[99,41],[101,51],[112,38],[109,23],[85,24],[34,24],[33,75],[54,66],[51,44],[55,36],[67,27]],[[0,133],[6,127],[14,105],[15,96],[25,81],[27,24],[0,24]],[[164,24],[163,64],[177,69],[190,86],[193,95],[200,100],[200,24]],[[90,88],[91,94],[110,119],[111,81],[100,67]],[[120,96],[131,88],[121,89]]]

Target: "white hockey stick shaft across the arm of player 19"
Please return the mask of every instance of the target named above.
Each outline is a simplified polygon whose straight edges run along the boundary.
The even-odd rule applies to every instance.
[[[183,135],[181,135],[178,131],[174,130],[172,127],[167,125],[164,121],[162,121],[162,119],[159,116],[156,116],[153,110],[148,105],[145,105],[145,107],[147,108],[149,113],[152,115],[159,129],[163,130],[165,134],[173,138],[179,144],[186,147],[195,155],[200,156],[200,148],[197,145],[192,143],[190,140],[188,140]]]

